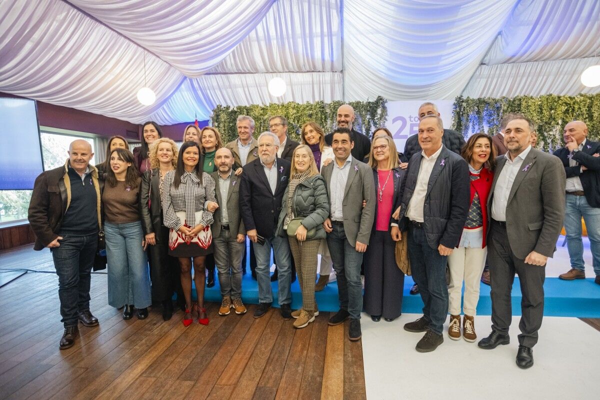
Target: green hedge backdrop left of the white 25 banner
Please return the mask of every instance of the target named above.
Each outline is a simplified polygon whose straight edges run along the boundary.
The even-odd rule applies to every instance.
[[[356,119],[354,127],[356,130],[370,136],[374,128],[382,127],[388,119],[387,101],[383,97],[377,97],[374,101],[352,101],[350,106],[354,108]],[[217,106],[212,110],[212,126],[217,128],[223,136],[223,142],[227,143],[238,137],[236,118],[238,115],[249,115],[256,124],[255,137],[269,130],[270,116],[283,115],[287,118],[287,133],[293,140],[300,137],[300,128],[305,122],[315,121],[325,133],[331,132],[335,127],[337,109],[343,101],[325,103],[284,103],[268,104],[267,106]]]

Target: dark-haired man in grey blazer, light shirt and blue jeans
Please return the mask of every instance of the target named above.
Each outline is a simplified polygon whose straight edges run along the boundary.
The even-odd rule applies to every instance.
[[[331,204],[323,227],[337,275],[340,311],[329,318],[329,325],[341,324],[350,317],[348,336],[356,341],[362,335],[361,263],[375,218],[375,182],[370,167],[350,155],[354,147],[352,131],[337,128],[332,147],[334,163],[321,170]]]

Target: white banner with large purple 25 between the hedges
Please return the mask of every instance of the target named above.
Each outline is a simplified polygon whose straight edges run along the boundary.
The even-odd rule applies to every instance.
[[[419,131],[419,106],[430,101],[437,106],[444,128],[452,125],[452,100],[410,100],[388,101],[388,122],[386,127],[394,136],[394,142],[399,152],[404,151],[404,144],[409,136]]]

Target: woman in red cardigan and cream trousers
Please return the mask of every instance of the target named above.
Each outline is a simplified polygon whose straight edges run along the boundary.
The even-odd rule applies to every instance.
[[[469,163],[471,205],[460,243],[448,256],[450,269],[448,336],[454,340],[460,339],[461,336],[461,289],[464,281],[462,333],[467,342],[474,342],[477,335],[473,317],[475,317],[475,310],[479,302],[479,278],[484,270],[485,256],[487,255],[485,247],[485,236],[488,230],[486,203],[496,165],[496,150],[492,145],[491,136],[484,133],[471,136],[464,145],[461,156]]]

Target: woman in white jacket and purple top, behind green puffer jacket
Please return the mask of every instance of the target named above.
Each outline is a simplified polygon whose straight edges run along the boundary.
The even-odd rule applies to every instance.
[[[301,141],[302,145],[307,145],[313,152],[314,161],[319,171],[323,166],[329,164],[334,159],[334,150],[331,146],[325,144],[325,132],[323,129],[314,121],[309,121],[302,125],[301,129]],[[327,246],[327,240],[323,239],[319,247],[319,254],[321,255],[321,264],[319,269],[319,280],[317,281],[314,290],[321,291],[329,283],[329,275],[333,270],[333,263],[331,261],[331,255],[329,255],[329,248]]]

